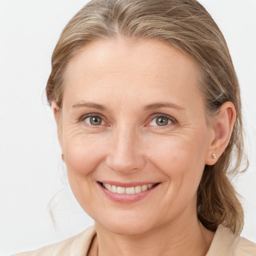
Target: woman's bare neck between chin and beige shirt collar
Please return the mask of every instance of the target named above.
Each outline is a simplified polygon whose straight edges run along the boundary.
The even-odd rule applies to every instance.
[[[125,235],[113,233],[95,222],[98,256],[180,256],[206,255],[214,233],[205,229],[196,214],[182,216],[173,222],[144,233]]]

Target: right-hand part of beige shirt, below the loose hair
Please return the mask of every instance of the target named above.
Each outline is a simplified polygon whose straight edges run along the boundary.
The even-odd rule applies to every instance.
[[[219,225],[206,256],[256,256],[256,243]]]

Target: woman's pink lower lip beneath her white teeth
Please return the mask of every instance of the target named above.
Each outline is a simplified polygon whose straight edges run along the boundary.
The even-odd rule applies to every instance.
[[[152,191],[154,191],[160,183],[154,185],[150,189],[147,189],[146,191],[140,192],[140,193],[134,193],[134,194],[118,194],[118,193],[113,193],[107,189],[105,189],[100,183],[98,183],[98,186],[102,190],[102,192],[112,201],[115,202],[122,202],[122,203],[132,203],[136,202],[138,200],[143,199],[146,197],[148,194],[150,194]]]

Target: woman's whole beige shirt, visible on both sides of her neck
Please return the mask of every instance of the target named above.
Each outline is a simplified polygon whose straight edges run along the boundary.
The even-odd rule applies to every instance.
[[[12,256],[86,256],[95,234],[94,226],[90,226],[66,240]],[[206,256],[256,256],[256,243],[236,236],[219,225]]]

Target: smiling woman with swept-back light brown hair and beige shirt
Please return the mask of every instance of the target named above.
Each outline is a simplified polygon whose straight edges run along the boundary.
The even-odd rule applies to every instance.
[[[62,31],[46,94],[95,226],[19,255],[255,255],[227,178],[243,155],[239,86],[197,1],[92,0]]]

